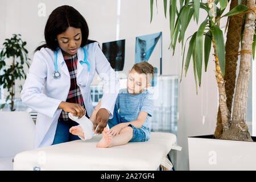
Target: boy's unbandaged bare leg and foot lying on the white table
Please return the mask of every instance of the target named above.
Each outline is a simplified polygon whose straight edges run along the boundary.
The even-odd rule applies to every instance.
[[[113,146],[121,146],[123,144],[127,144],[131,138],[133,138],[133,128],[127,126],[120,131],[119,135],[115,135],[115,137],[111,137],[108,129],[106,127],[102,131],[103,137],[100,142],[97,143],[96,147],[106,148]]]

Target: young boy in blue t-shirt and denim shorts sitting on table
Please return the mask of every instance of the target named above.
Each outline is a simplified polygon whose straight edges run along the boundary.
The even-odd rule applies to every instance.
[[[150,81],[154,77],[154,67],[147,61],[134,64],[127,76],[127,88],[119,90],[115,101],[113,118],[109,119],[110,130],[105,127],[102,139],[96,147],[113,147],[128,142],[144,142],[150,139],[149,117],[154,111],[154,100],[148,93]],[[101,102],[94,108],[90,121],[96,121]],[[119,109],[119,113],[118,113]],[[84,138],[81,126],[69,130],[73,135]]]

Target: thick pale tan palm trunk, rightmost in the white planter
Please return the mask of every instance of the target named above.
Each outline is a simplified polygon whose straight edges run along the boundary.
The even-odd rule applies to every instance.
[[[243,31],[241,63],[234,96],[232,123],[229,130],[223,131],[221,139],[252,141],[246,125],[246,106],[255,30],[255,0],[247,0],[247,7],[249,8],[249,12],[246,14],[245,29]]]

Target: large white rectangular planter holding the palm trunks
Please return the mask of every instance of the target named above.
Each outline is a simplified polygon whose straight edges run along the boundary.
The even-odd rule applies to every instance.
[[[254,142],[188,137],[189,170],[256,170]]]

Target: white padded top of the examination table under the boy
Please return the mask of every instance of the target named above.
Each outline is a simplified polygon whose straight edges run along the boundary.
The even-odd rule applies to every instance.
[[[156,170],[176,142],[171,133],[151,132],[147,142],[97,148],[101,135],[20,152],[14,170]]]

